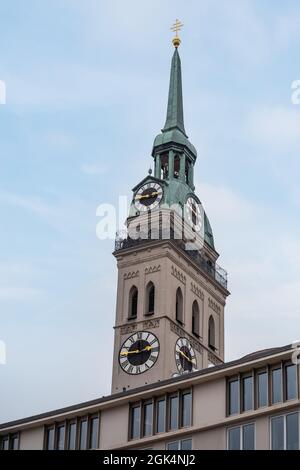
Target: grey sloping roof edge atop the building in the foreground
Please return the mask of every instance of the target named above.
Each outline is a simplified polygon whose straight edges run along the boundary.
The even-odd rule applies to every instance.
[[[39,421],[39,420],[42,420],[42,419],[47,419],[47,418],[50,418],[51,416],[60,415],[60,414],[80,410],[82,408],[88,408],[88,407],[92,407],[92,406],[96,406],[96,405],[101,405],[102,403],[106,403],[106,402],[109,402],[109,401],[112,401],[112,400],[118,400],[119,398],[124,398],[126,396],[130,397],[131,395],[134,395],[136,393],[151,390],[151,389],[155,389],[155,388],[158,388],[158,387],[161,387],[161,386],[165,386],[165,385],[169,385],[169,384],[173,384],[173,383],[177,383],[177,382],[180,383],[180,382],[186,380],[187,378],[188,379],[197,378],[197,377],[201,377],[203,375],[209,375],[209,374],[211,374],[213,372],[216,372],[216,371],[219,371],[219,370],[226,370],[227,368],[242,365],[242,364],[247,363],[247,362],[254,362],[254,361],[259,360],[259,359],[267,358],[268,356],[273,356],[275,354],[280,354],[280,353],[287,352],[290,349],[292,349],[292,347],[293,347],[293,345],[289,344],[287,346],[255,351],[253,353],[247,354],[246,356],[243,356],[243,357],[241,357],[239,359],[236,359],[234,361],[225,362],[223,364],[217,365],[215,367],[210,367],[208,369],[202,369],[200,371],[191,373],[189,375],[183,375],[183,376],[180,376],[180,377],[173,377],[173,378],[170,378],[170,379],[167,379],[167,380],[162,380],[160,382],[144,385],[143,387],[138,387],[138,388],[134,388],[132,390],[127,390],[126,392],[120,392],[120,393],[116,393],[116,394],[113,394],[113,395],[107,395],[107,396],[102,397],[102,398],[96,398],[94,400],[89,400],[89,401],[86,401],[86,402],[78,403],[77,405],[71,405],[71,406],[67,406],[65,408],[58,408],[58,409],[53,410],[53,411],[47,411],[45,413],[29,416],[27,418],[18,419],[18,420],[15,420],[15,421],[9,421],[9,422],[6,422],[6,423],[1,423],[0,424],[0,432],[1,432],[2,429],[13,428],[15,426],[20,426],[22,424],[27,424],[27,423],[30,423],[32,421]]]

